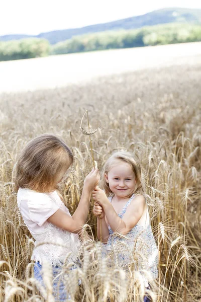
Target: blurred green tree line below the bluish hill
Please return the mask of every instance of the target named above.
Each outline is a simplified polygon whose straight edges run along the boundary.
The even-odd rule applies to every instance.
[[[195,41],[201,41],[201,25],[171,23],[137,30],[114,30],[74,36],[55,45],[38,38],[0,42],[0,60]]]

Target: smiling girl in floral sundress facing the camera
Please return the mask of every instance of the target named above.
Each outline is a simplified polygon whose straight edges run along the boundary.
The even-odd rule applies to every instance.
[[[92,196],[98,238],[100,219],[102,221],[103,256],[110,259],[113,251],[118,254],[115,265],[128,269],[133,264],[148,287],[143,269],[149,271],[153,279],[157,278],[158,249],[143,196],[141,167],[132,154],[116,152],[109,158],[103,168],[102,187],[104,190],[97,186]],[[112,259],[109,263],[112,265]],[[149,298],[144,296],[144,301]]]

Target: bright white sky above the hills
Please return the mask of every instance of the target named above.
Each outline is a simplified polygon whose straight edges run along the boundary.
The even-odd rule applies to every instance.
[[[37,35],[181,7],[201,9],[200,0],[0,0],[0,36]]]

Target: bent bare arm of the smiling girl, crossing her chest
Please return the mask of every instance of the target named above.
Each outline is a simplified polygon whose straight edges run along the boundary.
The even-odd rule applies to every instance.
[[[144,212],[146,202],[143,195],[135,197],[134,202],[128,206],[128,210],[121,219],[116,213],[114,207],[108,200],[105,192],[98,187],[93,191],[93,199],[103,206],[105,215],[113,232],[128,234],[138,223]]]

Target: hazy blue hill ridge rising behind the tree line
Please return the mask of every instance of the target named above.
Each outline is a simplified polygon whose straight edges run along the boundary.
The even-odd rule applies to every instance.
[[[184,8],[166,8],[153,11],[141,16],[135,16],[113,22],[95,24],[82,28],[56,30],[47,33],[40,33],[37,36],[29,35],[4,35],[0,36],[0,41],[19,40],[22,38],[35,37],[47,39],[50,44],[56,44],[65,41],[73,36],[84,35],[88,33],[104,32],[111,30],[129,30],[144,26],[152,26],[167,23],[192,23],[201,24],[201,10]]]

